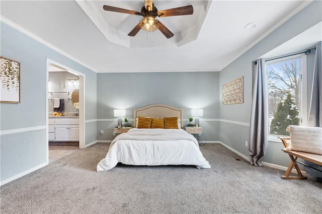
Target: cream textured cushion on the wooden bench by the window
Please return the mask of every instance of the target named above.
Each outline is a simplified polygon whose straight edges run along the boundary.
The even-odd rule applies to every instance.
[[[289,132],[292,150],[322,154],[322,128],[289,126]]]

